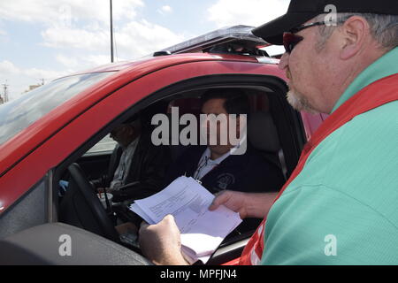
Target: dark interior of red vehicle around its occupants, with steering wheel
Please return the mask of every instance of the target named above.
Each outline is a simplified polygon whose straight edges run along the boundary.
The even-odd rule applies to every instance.
[[[226,86],[218,85],[212,88],[226,88]],[[228,88],[231,88],[231,86],[228,85]],[[299,149],[302,146],[300,139],[297,138],[299,136],[297,133],[303,132],[300,124],[301,119],[296,119],[296,112],[287,105],[284,97],[280,96],[280,91],[283,91],[283,89],[239,85],[233,86],[233,88],[241,88],[249,97],[249,143],[262,158],[278,166],[287,179],[295,168]],[[73,157],[68,158],[64,166],[57,169],[56,178],[53,181],[56,190],[59,190],[59,180],[69,182],[65,196],[57,199],[58,220],[96,233],[125,246],[127,249],[140,253],[136,231],[120,234],[115,228],[124,223],[136,221],[136,215],[128,210],[126,202],[111,203],[106,200],[105,208],[97,197],[96,188],[90,184],[90,180],[94,180],[107,172],[115,143],[109,142],[108,138],[105,139],[108,141],[107,147],[97,151],[93,151],[93,149],[101,148],[98,147],[99,143],[103,142],[103,138],[109,135],[111,128],[131,120],[132,117],[144,115],[150,118],[154,114],[163,113],[171,119],[172,107],[179,108],[180,116],[190,113],[198,117],[201,113],[200,97],[207,89],[209,88],[193,88],[172,92],[153,103],[147,103],[145,107],[132,107],[121,117],[115,119],[111,125],[104,128],[102,133],[99,133],[92,141],[88,142],[85,149],[78,150]],[[153,130],[155,127],[147,126],[147,130]],[[180,126],[179,130],[182,130],[183,127]],[[160,145],[170,150],[170,166],[187,148],[187,146],[171,144],[170,141],[168,145]],[[56,195],[55,192],[54,195]],[[130,203],[133,202],[134,200],[131,200]],[[230,233],[207,264],[223,264],[239,257],[261,219],[250,219],[250,221],[249,225],[239,226]]]

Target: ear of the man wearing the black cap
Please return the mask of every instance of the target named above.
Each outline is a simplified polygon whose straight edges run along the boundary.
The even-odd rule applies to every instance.
[[[348,60],[356,56],[364,48],[366,38],[370,34],[370,27],[366,19],[353,16],[346,20],[341,27],[341,60]]]

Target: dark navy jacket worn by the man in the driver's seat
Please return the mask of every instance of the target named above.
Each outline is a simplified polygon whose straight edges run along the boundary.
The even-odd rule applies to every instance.
[[[168,185],[176,178],[192,177],[197,169],[205,146],[191,146],[183,152],[166,174]],[[210,193],[222,190],[241,192],[275,192],[285,180],[280,169],[249,147],[244,155],[230,155],[202,178],[202,185]]]

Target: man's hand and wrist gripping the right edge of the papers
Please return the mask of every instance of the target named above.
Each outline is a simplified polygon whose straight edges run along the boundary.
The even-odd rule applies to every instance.
[[[217,210],[220,205],[239,212],[241,219],[265,218],[278,193],[241,193],[223,191],[216,195],[209,210]]]

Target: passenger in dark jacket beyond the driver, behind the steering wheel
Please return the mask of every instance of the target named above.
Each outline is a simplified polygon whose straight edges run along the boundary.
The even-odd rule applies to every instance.
[[[108,173],[92,180],[100,191],[106,187],[118,203],[148,197],[161,190],[170,151],[165,146],[150,142],[150,132],[140,119],[115,127],[111,138],[118,142]]]

